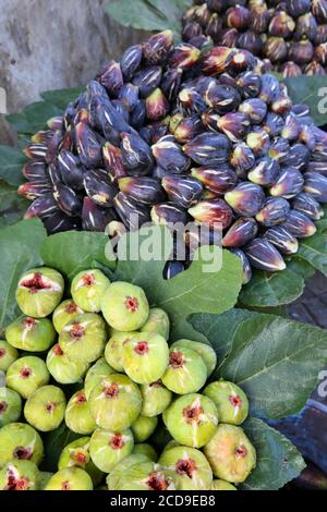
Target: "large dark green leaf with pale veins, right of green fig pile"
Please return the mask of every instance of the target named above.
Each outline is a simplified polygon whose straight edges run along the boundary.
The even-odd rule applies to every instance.
[[[219,334],[218,321],[218,343]],[[326,363],[325,330],[256,314],[238,325],[230,353],[216,377],[244,389],[254,416],[278,419],[302,410]]]

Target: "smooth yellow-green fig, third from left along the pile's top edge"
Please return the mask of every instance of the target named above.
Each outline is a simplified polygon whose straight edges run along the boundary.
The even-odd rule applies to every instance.
[[[101,297],[101,312],[118,331],[137,331],[148,319],[149,305],[142,288],[118,281]]]

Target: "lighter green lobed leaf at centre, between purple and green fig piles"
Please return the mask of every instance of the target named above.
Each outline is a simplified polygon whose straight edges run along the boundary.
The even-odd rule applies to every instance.
[[[191,267],[174,279],[165,281],[162,270],[166,257],[170,254],[172,239],[167,229],[154,227],[153,240],[166,240],[165,257],[162,259],[144,260],[140,258],[148,236],[148,228],[142,229],[136,235],[141,237],[140,246],[135,244],[135,233],[126,234],[121,246],[128,252],[134,251],[134,261],[119,260],[118,276],[120,279],[132,281],[144,288],[153,305],[162,307],[172,322],[172,339],[181,334],[181,322],[194,313],[225,313],[235,304],[242,283],[242,268],[238,257],[229,252],[222,252],[222,268],[220,271],[205,272],[207,260],[203,258],[204,251],[219,252],[218,247],[203,247],[198,258]],[[160,239],[161,237],[161,239]],[[138,251],[140,247],[140,251]],[[138,254],[137,254],[138,251]],[[218,254],[216,254],[218,256]],[[174,332],[175,329],[175,332]]]

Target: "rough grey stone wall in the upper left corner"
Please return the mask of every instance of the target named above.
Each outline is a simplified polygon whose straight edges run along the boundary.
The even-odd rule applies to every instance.
[[[40,92],[85,85],[144,37],[110,20],[108,1],[0,0],[0,87],[8,112],[38,100]],[[0,143],[11,138],[0,119]]]

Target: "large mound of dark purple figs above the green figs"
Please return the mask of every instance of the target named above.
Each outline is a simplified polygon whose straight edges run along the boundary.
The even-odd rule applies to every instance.
[[[244,282],[282,270],[324,215],[327,134],[258,66],[243,49],[174,46],[170,31],[129,48],[25,149],[26,218],[109,235],[218,222]]]

